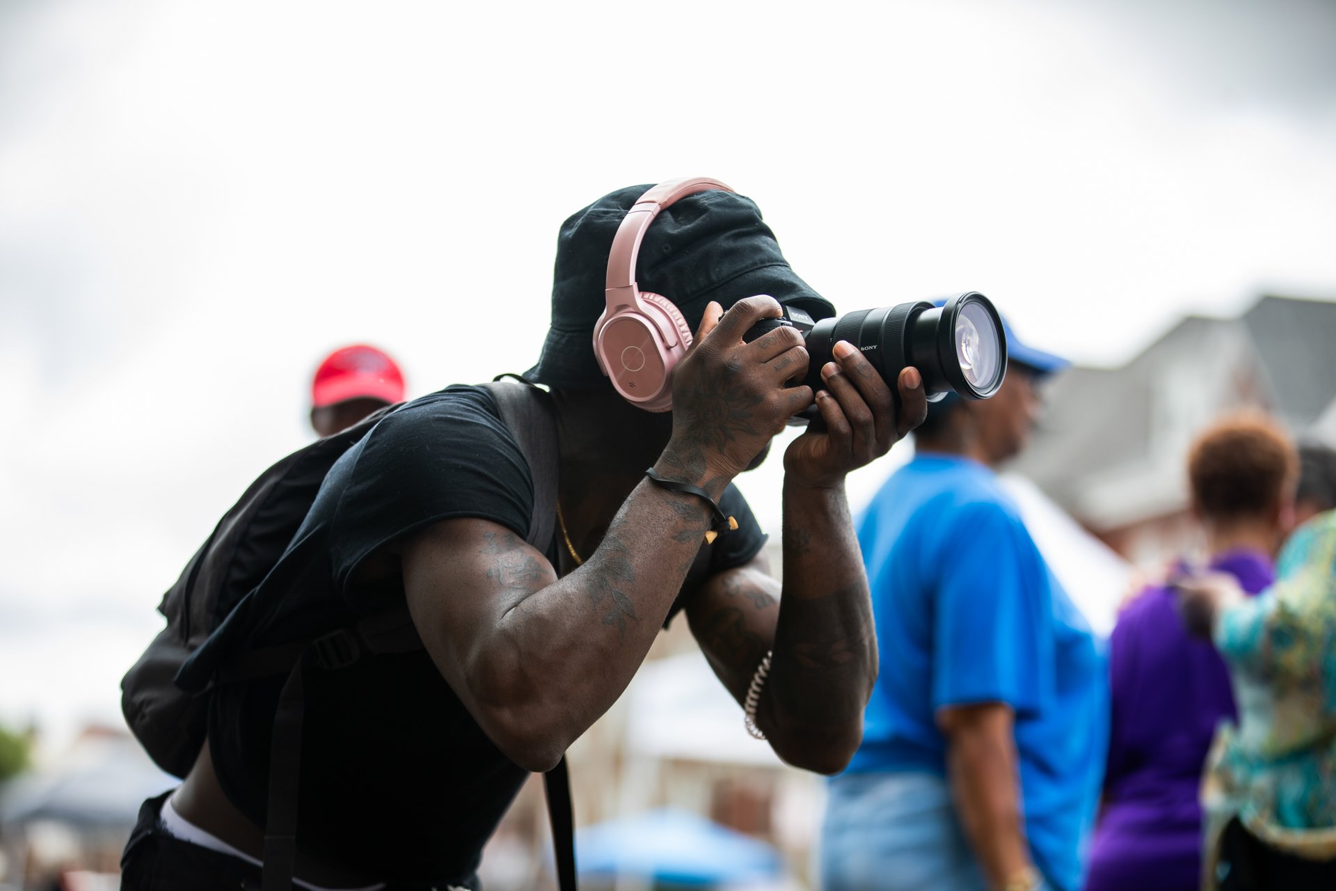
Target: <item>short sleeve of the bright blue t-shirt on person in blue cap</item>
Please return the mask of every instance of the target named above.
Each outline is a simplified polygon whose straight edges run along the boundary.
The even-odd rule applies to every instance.
[[[1041,708],[1053,689],[1050,592],[1021,521],[995,504],[965,508],[937,556],[933,708]]]

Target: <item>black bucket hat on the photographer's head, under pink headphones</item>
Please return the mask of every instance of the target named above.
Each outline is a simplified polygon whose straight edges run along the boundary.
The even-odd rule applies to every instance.
[[[593,326],[605,306],[612,239],[649,188],[631,186],[604,195],[561,224],[552,327],[538,363],[525,373],[528,379],[554,389],[612,387],[593,357]],[[770,294],[816,319],[835,315],[835,307],[790,269],[756,203],[717,190],[688,195],[659,214],[640,244],[636,283],[672,301],[692,331],[711,301],[727,310],[754,294]]]

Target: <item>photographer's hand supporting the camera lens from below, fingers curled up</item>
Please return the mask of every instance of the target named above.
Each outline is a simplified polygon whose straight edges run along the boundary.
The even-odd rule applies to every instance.
[[[822,369],[826,390],[816,394],[824,430],[808,429],[784,453],[784,470],[814,486],[840,485],[850,470],[880,458],[923,422],[927,397],[918,369],[900,371],[895,395],[862,353],[847,341]]]

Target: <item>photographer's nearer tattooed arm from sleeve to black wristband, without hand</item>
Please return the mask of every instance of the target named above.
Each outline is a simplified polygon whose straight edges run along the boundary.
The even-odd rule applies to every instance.
[[[403,550],[409,610],[488,736],[516,764],[545,771],[631,683],[707,520],[699,498],[641,484],[561,580],[509,529],[445,520]]]

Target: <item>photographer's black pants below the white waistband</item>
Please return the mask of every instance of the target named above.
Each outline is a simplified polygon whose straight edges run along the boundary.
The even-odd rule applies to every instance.
[[[170,795],[164,792],[148,799],[139,808],[139,820],[120,856],[120,891],[259,891],[258,866],[167,834],[162,811]],[[465,884],[474,890],[482,887],[477,878]],[[441,891],[445,887],[440,886]],[[385,891],[433,890],[430,886],[387,884]]]

